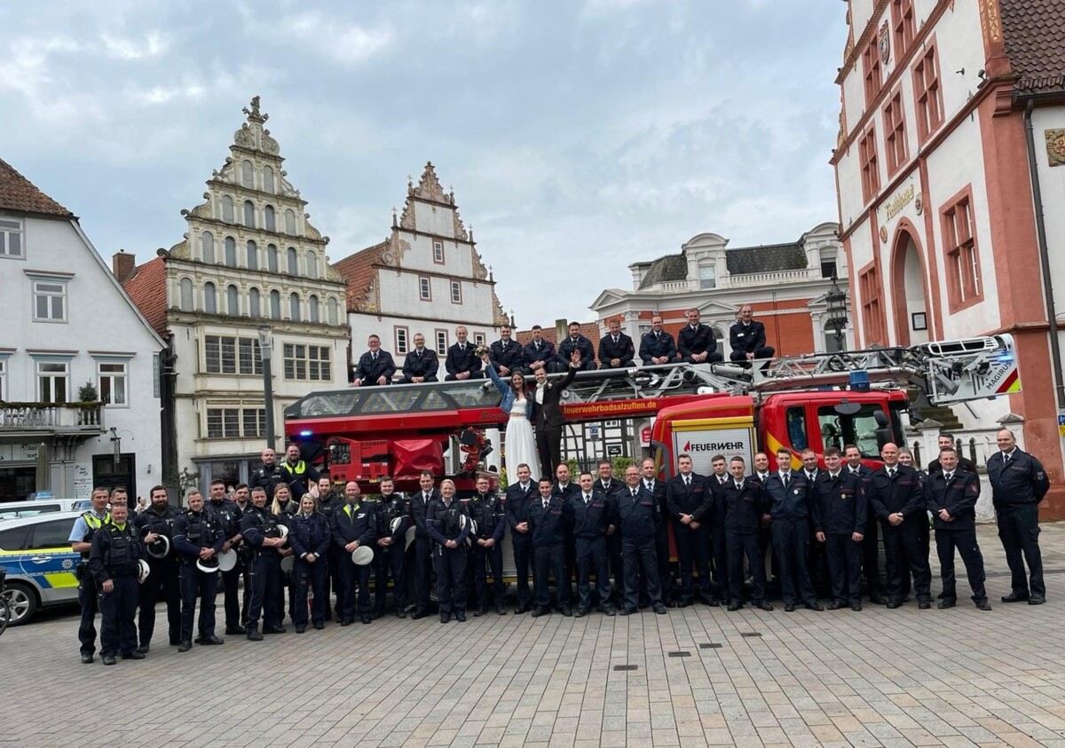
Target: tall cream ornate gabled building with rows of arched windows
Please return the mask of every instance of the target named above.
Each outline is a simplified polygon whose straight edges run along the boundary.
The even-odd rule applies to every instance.
[[[315,389],[346,386],[345,284],[329,238],[283,169],[259,97],[212,173],[189,230],[168,250],[115,274],[176,357],[164,435],[177,471],[246,482],[267,441],[280,449],[283,410]],[[260,329],[269,330],[274,435],[266,434]],[[186,478],[187,481],[187,478]]]

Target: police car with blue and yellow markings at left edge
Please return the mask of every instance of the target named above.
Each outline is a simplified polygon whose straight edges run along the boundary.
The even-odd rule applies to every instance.
[[[7,570],[4,597],[11,624],[26,623],[42,607],[78,602],[81,554],[70,550],[79,511],[52,511],[0,523],[0,566]]]

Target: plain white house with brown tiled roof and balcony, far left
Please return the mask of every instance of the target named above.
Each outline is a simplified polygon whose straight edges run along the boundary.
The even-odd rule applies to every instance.
[[[147,494],[165,344],[78,217],[2,160],[0,279],[0,501]]]

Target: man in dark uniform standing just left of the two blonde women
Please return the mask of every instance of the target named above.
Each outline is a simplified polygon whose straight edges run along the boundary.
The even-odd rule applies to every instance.
[[[281,617],[284,615],[279,597],[281,586],[281,556],[284,543],[278,530],[280,521],[266,506],[266,489],[251,489],[251,508],[241,518],[241,535],[250,549],[251,601],[248,606],[248,639],[262,641],[263,633],[283,634]],[[259,632],[259,619],[263,632]]]

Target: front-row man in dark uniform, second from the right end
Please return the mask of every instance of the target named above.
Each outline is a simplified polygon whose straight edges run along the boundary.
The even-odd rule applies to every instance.
[[[928,510],[935,522],[935,547],[939,555],[943,576],[940,608],[957,604],[954,582],[954,550],[962,554],[965,572],[972,588],[972,601],[981,611],[990,611],[987,590],[984,588],[984,557],[977,542],[977,500],[980,498],[980,478],[976,473],[962,470],[954,448],[939,450],[939,472],[929,476],[924,487]]]

